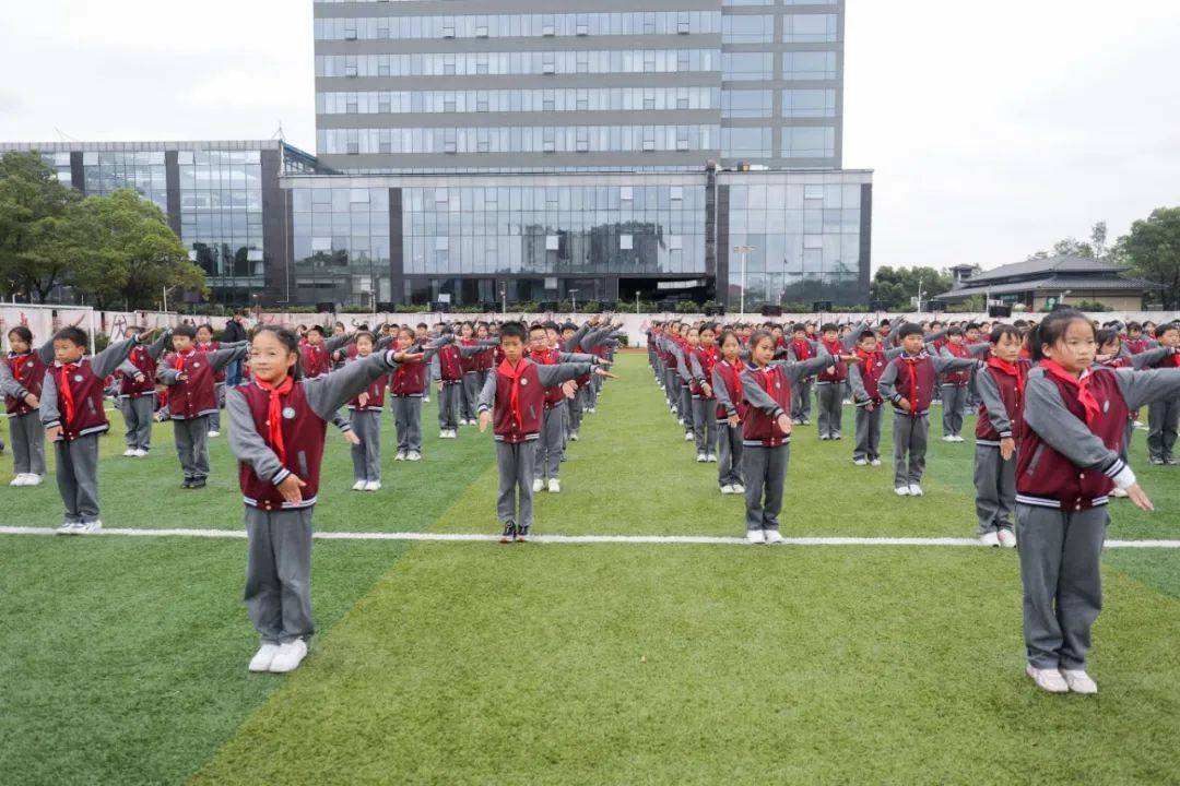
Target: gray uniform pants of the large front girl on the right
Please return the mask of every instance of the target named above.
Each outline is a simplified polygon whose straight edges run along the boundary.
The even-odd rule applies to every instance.
[[[1036,668],[1086,667],[1090,626],[1102,610],[1106,506],[1057,510],[1016,506],[1024,646]]]

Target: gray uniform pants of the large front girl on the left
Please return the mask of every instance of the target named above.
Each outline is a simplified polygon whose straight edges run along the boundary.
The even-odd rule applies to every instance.
[[[287,643],[315,632],[312,510],[245,508],[245,610],[263,643]]]

